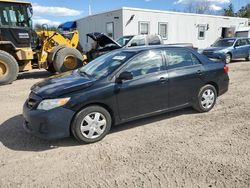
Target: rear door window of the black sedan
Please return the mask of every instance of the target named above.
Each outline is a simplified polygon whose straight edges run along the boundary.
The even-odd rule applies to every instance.
[[[200,64],[200,61],[191,52],[186,50],[166,50],[168,69]]]

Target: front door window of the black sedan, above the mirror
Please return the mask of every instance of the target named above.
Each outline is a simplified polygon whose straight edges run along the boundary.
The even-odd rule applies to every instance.
[[[125,68],[134,77],[155,73],[163,70],[163,60],[161,51],[149,51],[146,54],[135,57]]]

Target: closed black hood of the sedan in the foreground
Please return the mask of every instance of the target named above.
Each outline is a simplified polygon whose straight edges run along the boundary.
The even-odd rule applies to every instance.
[[[43,99],[56,98],[62,95],[85,89],[94,84],[94,79],[79,74],[77,70],[47,78],[31,87],[31,91]]]

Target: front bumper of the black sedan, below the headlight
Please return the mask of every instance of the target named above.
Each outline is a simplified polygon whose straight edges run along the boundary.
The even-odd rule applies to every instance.
[[[70,136],[70,124],[74,111],[59,107],[52,110],[36,110],[23,106],[24,129],[39,138],[59,139]]]

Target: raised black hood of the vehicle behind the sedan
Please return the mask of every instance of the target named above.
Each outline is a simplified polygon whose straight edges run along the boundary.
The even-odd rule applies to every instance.
[[[120,44],[118,44],[116,41],[114,41],[112,38],[108,37],[104,33],[89,33],[87,34],[87,36],[98,42],[101,47],[105,47],[109,44],[112,44],[117,46],[118,48],[122,48]]]

